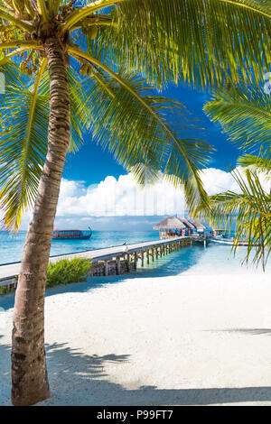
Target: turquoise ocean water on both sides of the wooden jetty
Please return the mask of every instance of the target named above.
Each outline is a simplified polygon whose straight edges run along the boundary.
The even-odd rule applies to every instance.
[[[0,264],[21,261],[25,235],[26,232],[23,231],[17,235],[0,232]],[[129,233],[94,231],[89,240],[53,240],[51,242],[51,255],[79,253],[124,243],[140,243],[157,239],[159,239],[159,235],[156,231]],[[178,275],[182,272],[193,274],[262,272],[260,266],[256,269],[252,265],[241,265],[244,256],[243,248],[240,248],[236,257],[230,251],[230,246],[219,244],[208,244],[207,248],[202,245],[186,246],[178,252],[155,260],[154,263],[149,265],[145,263],[144,268],[138,266],[138,272],[161,276]],[[266,267],[267,273],[271,273],[270,261]]]

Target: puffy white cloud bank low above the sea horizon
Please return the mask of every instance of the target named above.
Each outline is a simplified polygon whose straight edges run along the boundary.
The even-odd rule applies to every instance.
[[[237,189],[227,171],[208,168],[202,180],[210,195],[226,189]],[[57,217],[122,217],[183,214],[182,189],[159,180],[145,189],[139,188],[131,174],[118,179],[108,176],[96,186],[83,181],[62,180]]]

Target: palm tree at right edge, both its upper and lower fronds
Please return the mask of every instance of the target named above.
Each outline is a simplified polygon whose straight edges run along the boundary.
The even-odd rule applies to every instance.
[[[210,119],[238,143],[242,156],[232,171],[238,189],[211,196],[210,206],[199,206],[197,212],[217,226],[230,228],[236,221],[234,252],[247,239],[244,262],[252,257],[265,271],[271,253],[271,97],[263,87],[263,81],[254,80],[250,87],[220,88],[204,106]]]

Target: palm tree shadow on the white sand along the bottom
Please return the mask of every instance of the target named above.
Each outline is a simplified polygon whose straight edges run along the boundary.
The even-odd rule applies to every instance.
[[[0,336],[1,337],[1,336]],[[46,346],[51,398],[39,405],[212,405],[271,401],[270,387],[157,389],[141,386],[128,390],[109,381],[108,362],[121,364],[129,355],[83,355],[66,344]],[[10,346],[0,345],[0,405],[9,404]],[[3,378],[2,378],[3,377]]]

